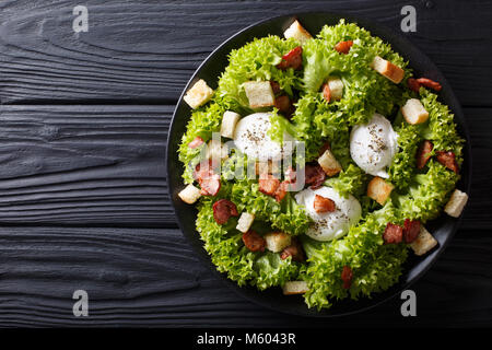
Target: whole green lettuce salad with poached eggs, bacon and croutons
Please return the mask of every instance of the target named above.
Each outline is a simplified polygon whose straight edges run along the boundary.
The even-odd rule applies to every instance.
[[[441,90],[343,20],[232,50],[216,82],[186,92],[179,147],[178,196],[216,269],[318,310],[398,282],[410,254],[438,244],[426,223],[468,199]]]

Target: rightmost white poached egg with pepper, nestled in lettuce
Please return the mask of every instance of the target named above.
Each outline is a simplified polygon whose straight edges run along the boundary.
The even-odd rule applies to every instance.
[[[387,178],[386,167],[391,164],[398,150],[397,139],[391,122],[376,113],[370,122],[352,128],[350,155],[367,174]]]

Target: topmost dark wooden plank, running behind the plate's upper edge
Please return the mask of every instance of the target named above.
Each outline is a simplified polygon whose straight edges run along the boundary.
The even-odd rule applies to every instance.
[[[257,21],[305,11],[345,12],[407,33],[443,70],[464,105],[491,106],[492,3],[483,1],[85,1],[87,33],[73,33],[77,1],[2,1],[1,103],[174,103],[199,63]]]

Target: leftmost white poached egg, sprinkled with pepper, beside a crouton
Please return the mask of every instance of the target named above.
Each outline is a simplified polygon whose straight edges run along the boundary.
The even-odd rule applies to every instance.
[[[234,144],[248,159],[259,161],[284,159],[293,152],[293,138],[284,136],[283,144],[268,135],[271,128],[269,113],[255,113],[242,118],[234,130]]]

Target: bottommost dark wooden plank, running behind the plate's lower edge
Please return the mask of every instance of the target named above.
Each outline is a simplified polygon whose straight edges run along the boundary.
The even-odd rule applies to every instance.
[[[484,326],[492,316],[492,238],[461,231],[412,289],[418,317],[396,298],[331,320],[243,300],[197,260],[178,230],[0,228],[0,326]],[[72,294],[89,294],[74,317]]]

